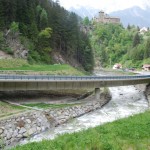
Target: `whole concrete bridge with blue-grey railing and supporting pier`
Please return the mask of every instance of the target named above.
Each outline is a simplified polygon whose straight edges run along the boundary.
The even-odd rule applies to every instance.
[[[48,76],[0,75],[0,91],[42,91],[61,89],[95,89],[150,83],[150,75],[134,76]]]

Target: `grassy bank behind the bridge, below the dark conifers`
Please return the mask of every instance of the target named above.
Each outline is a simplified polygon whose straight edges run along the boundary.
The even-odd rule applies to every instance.
[[[66,64],[55,64],[55,65],[30,65],[26,60],[23,59],[2,59],[0,60],[0,71],[9,73],[45,73],[54,75],[83,75],[81,71],[66,65]]]

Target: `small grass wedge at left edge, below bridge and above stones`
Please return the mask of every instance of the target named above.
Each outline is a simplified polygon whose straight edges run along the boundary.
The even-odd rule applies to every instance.
[[[0,101],[0,118],[24,111],[25,108],[21,106],[10,105]]]

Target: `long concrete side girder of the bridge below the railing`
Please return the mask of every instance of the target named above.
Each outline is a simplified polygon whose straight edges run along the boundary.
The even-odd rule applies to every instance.
[[[59,89],[95,89],[99,87],[126,86],[150,83],[148,79],[124,80],[71,80],[71,81],[1,81],[0,91],[26,91],[26,90],[59,90]]]

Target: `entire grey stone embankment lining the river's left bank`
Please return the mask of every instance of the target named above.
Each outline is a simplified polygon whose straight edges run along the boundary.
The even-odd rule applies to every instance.
[[[111,99],[109,94],[102,95],[100,101],[85,102],[61,109],[32,111],[0,120],[0,146],[14,145],[22,138],[41,133],[58,126],[71,118],[101,108]]]

